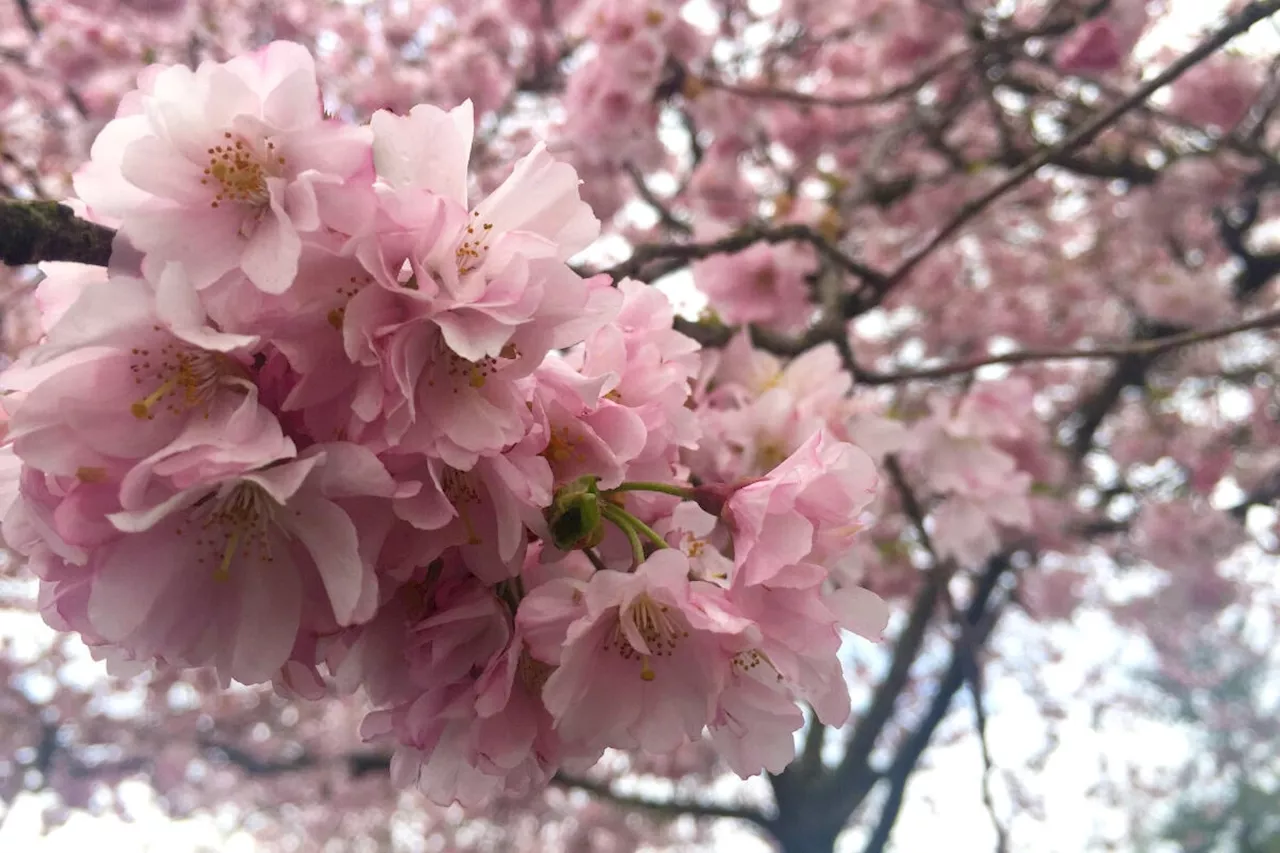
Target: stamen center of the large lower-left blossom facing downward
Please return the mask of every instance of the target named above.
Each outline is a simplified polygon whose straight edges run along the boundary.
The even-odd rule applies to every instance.
[[[196,546],[207,549],[207,556],[196,557],[196,562],[215,564],[218,581],[230,579],[237,557],[274,562],[269,534],[279,508],[275,498],[256,483],[241,482],[223,494],[210,493],[196,503],[189,519],[196,526]]]

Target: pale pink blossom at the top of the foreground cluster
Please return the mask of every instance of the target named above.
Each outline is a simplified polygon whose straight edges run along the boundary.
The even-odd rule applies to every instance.
[[[197,288],[239,270],[279,293],[305,236],[358,227],[369,137],[324,118],[305,49],[273,42],[195,72],[152,67],[140,85],[76,191],[148,264],[179,261]]]

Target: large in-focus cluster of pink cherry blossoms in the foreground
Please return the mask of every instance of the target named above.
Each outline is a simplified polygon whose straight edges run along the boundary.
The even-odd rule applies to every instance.
[[[3,375],[4,540],[116,665],[362,689],[439,803],[704,733],[781,771],[887,621],[829,576],[874,464],[815,429],[692,478],[698,345],[567,263],[599,223],[543,146],[472,204],[474,129],[330,118],[291,42],[148,68],[74,177],[111,268],[45,265]]]

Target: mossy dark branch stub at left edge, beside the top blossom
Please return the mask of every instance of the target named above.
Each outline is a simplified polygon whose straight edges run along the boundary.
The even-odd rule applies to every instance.
[[[76,261],[106,266],[115,232],[56,201],[0,200],[0,263]]]

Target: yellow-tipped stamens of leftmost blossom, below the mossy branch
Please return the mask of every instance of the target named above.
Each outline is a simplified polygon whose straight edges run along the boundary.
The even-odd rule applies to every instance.
[[[156,410],[174,415],[207,406],[223,378],[230,373],[233,362],[220,352],[207,352],[179,343],[165,343],[159,350],[134,347],[132,350],[134,384],[157,383],[151,393],[129,406],[138,420],[155,420]],[[209,412],[205,412],[209,416]]]

